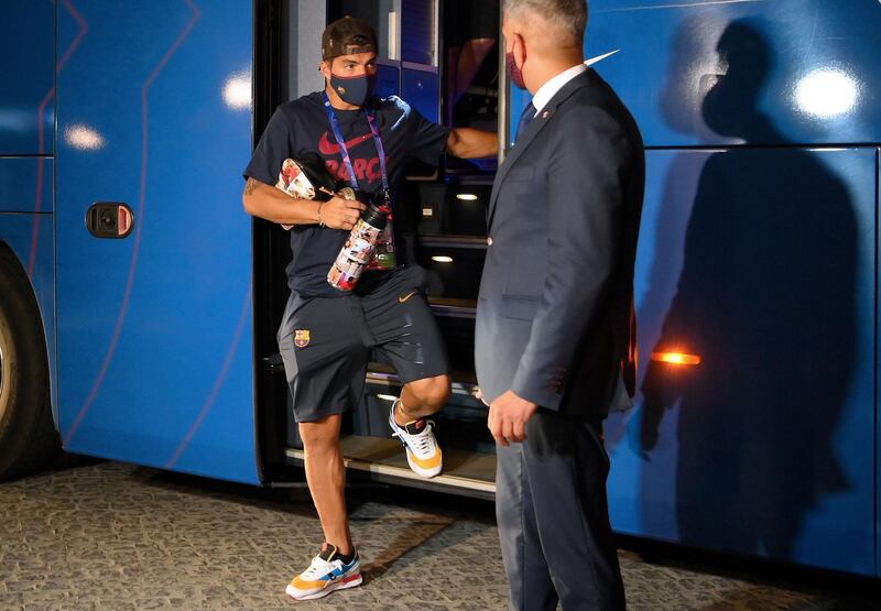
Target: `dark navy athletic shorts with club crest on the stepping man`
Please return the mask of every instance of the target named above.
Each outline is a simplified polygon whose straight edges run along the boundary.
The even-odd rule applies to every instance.
[[[394,367],[403,383],[449,373],[425,299],[425,271],[406,265],[361,282],[344,297],[287,299],[278,340],[296,422],[358,405],[371,351]]]

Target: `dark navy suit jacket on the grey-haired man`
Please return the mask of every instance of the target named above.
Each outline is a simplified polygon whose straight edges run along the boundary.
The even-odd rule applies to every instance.
[[[475,337],[485,401],[507,390],[605,415],[635,381],[633,262],[645,162],[633,118],[596,72],[530,123],[496,175]]]

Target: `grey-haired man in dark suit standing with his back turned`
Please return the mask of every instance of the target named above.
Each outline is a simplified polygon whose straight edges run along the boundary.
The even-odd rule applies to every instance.
[[[583,64],[586,23],[583,0],[503,7],[511,80],[534,97],[493,185],[475,345],[511,605],[530,611],[624,607],[601,423],[633,394],[644,153]]]

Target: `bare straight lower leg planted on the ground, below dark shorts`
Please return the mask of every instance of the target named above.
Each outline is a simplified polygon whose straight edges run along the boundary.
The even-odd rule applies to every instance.
[[[354,552],[349,519],[346,513],[346,468],[339,449],[340,414],[317,422],[300,423],[305,449],[306,482],[327,543],[340,554]]]

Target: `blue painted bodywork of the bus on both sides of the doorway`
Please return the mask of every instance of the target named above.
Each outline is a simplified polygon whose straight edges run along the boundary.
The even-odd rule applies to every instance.
[[[4,3],[0,241],[32,277],[67,449],[257,483],[252,3],[119,4]],[[878,576],[881,6],[590,9],[586,56],[621,50],[596,67],[650,148],[638,405],[606,424],[613,526]],[[512,134],[527,100],[511,90]],[[128,204],[132,234],[91,237],[95,201]],[[674,348],[701,363],[652,364]]]

